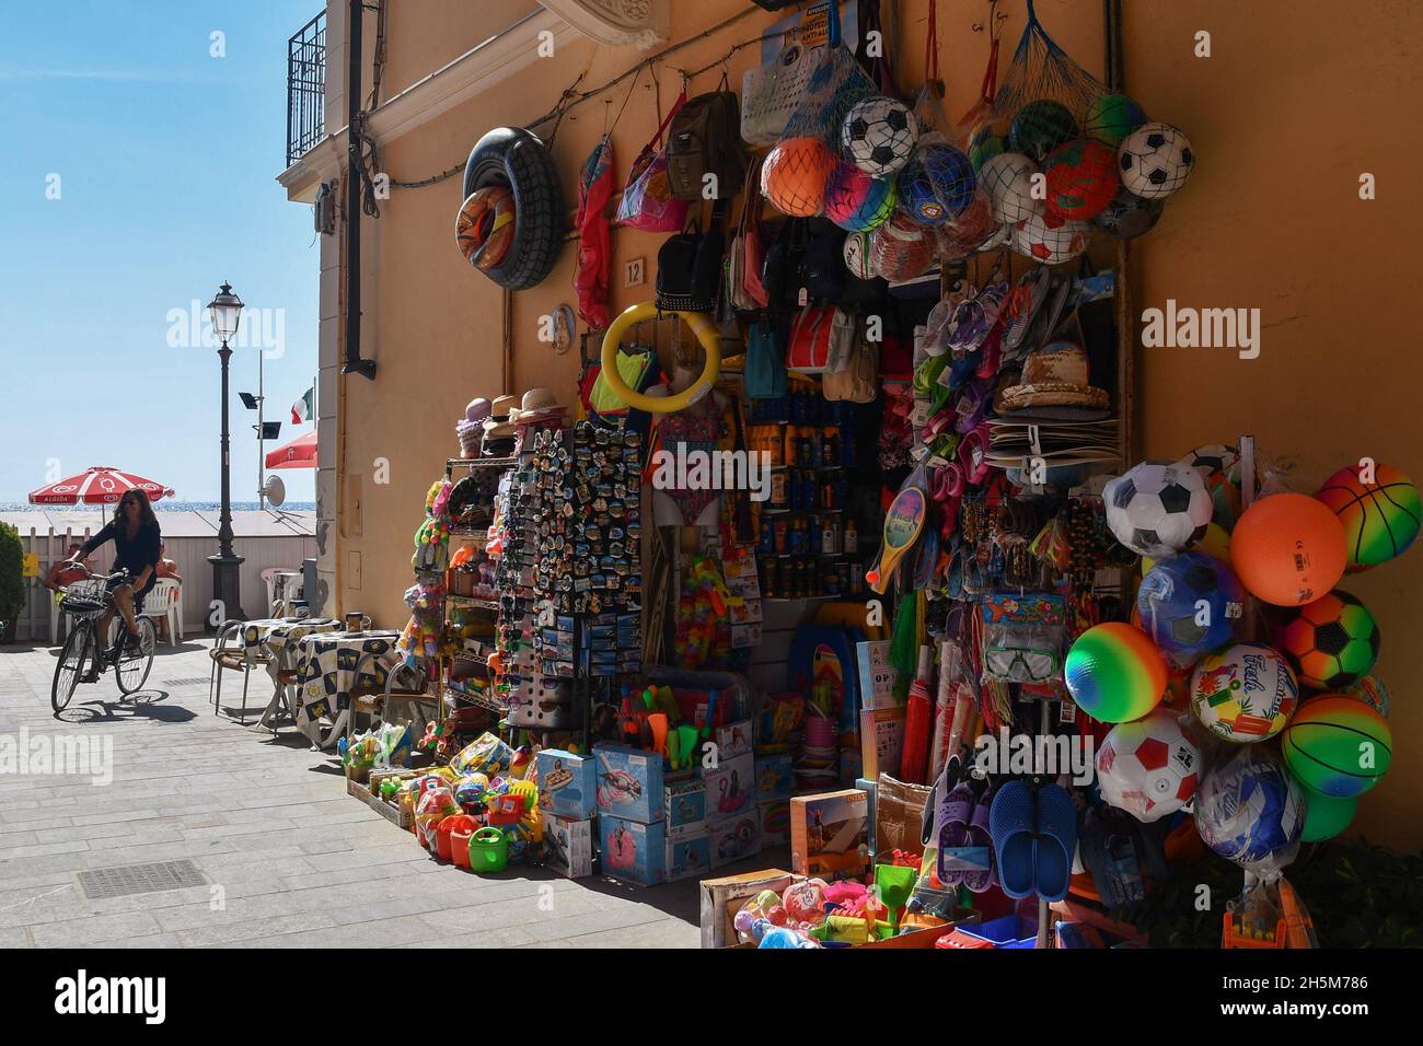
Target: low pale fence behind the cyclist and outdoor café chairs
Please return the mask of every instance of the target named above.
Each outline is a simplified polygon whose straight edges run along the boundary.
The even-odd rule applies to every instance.
[[[71,542],[83,542],[98,529],[98,519],[90,525],[67,525],[57,528],[36,527],[36,519],[16,518],[20,514],[0,514],[0,519],[20,528],[20,542],[24,551],[34,552],[40,561],[40,576],[26,578],[27,601],[16,620],[16,640],[21,643],[53,643],[51,606],[53,596],[44,588],[50,566],[68,558]],[[30,517],[33,514],[23,514]],[[189,517],[189,518],[179,518]],[[194,518],[195,517],[195,518]],[[189,636],[201,635],[206,625],[212,601],[212,564],[209,555],[218,551],[216,528],[206,514],[159,512],[158,522],[164,529],[164,555],[178,565],[182,576],[179,613],[182,628]],[[262,571],[269,566],[297,571],[303,559],[316,556],[316,538],[300,531],[312,524],[306,518],[287,517],[285,521],[270,512],[233,514],[236,534],[232,546],[246,562],[242,564],[242,609],[249,618],[266,616],[268,596]],[[199,531],[194,534],[194,531]],[[114,561],[112,544],[105,545],[90,558],[95,572],[107,571]]]

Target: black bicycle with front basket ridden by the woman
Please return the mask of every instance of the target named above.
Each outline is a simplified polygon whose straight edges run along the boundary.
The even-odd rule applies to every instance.
[[[54,683],[50,686],[50,704],[55,713],[68,706],[80,683],[97,683],[108,669],[114,669],[120,692],[134,693],[148,680],[148,673],[154,667],[154,650],[158,648],[158,630],[154,622],[139,616],[137,640],[129,643],[134,636],[124,616],[114,609],[112,589],[128,581],[128,571],[92,574],[85,568],[85,572],[88,576],[70,585],[60,601],[60,609],[71,616],[74,625],[60,650],[60,660],[54,666]],[[105,648],[100,645],[98,622],[111,611],[112,642]],[[87,663],[91,663],[88,670],[85,670]]]

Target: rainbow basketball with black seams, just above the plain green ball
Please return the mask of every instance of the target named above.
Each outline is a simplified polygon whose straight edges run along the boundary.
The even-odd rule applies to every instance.
[[[1363,702],[1329,693],[1299,707],[1285,727],[1281,751],[1289,773],[1308,788],[1349,798],[1389,771],[1393,733]]]

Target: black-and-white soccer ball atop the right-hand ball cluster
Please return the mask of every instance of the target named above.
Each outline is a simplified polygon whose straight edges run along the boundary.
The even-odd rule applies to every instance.
[[[1205,537],[1211,495],[1194,468],[1143,461],[1101,492],[1107,527],[1137,555],[1171,556]]]

